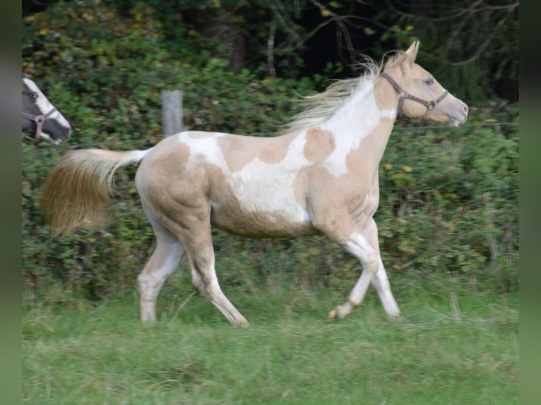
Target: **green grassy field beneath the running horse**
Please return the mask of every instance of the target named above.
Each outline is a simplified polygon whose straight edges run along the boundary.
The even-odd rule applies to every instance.
[[[246,329],[191,295],[185,274],[152,327],[135,291],[98,305],[25,295],[23,403],[518,404],[518,294],[438,277],[391,277],[392,322],[372,290],[328,322],[337,291],[229,286]]]

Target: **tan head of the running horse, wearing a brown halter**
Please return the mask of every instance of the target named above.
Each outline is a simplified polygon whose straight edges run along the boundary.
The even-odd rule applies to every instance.
[[[459,126],[468,118],[468,106],[454,97],[424,68],[415,63],[419,42],[388,64],[381,73],[398,93],[398,114]]]

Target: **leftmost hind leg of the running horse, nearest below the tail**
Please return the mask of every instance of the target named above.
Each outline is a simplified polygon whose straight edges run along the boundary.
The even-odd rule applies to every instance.
[[[160,222],[157,222],[151,214],[148,214],[148,210],[145,212],[153,226],[157,246],[138,276],[139,304],[141,306],[141,320],[155,322],[157,296],[160,294],[160,289],[162,289],[167,277],[179,267],[184,254],[184,246],[177,236]]]

